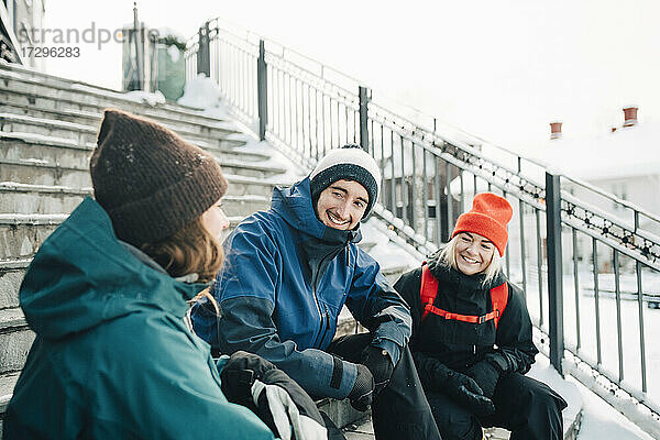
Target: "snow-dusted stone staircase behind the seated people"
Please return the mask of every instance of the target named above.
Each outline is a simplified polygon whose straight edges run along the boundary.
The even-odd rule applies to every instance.
[[[275,185],[293,183],[272,148],[246,145],[253,141],[231,120],[144,98],[0,62],[0,437],[7,403],[34,339],[19,308],[19,287],[40,245],[91,193],[88,161],[103,109],[154,119],[218,157],[230,183],[223,199],[230,228],[266,209]],[[365,228],[371,232],[361,246],[367,251],[382,244],[383,234],[375,229]],[[395,260],[383,266],[393,282],[411,266],[409,256]],[[339,327],[342,332],[355,329],[345,314]],[[336,402],[323,405],[342,422],[355,418]]]

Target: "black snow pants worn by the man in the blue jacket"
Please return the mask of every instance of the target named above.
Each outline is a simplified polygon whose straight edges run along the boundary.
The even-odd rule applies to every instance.
[[[327,351],[349,362],[359,363],[360,353],[372,339],[371,333],[343,336],[332,341]],[[376,440],[440,440],[407,346],[402,350],[389,384],[372,404],[372,420]]]

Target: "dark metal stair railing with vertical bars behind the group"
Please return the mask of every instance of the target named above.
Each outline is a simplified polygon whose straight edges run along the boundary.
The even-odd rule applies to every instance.
[[[646,344],[654,321],[645,315],[660,314],[658,217],[219,19],[190,38],[186,58],[189,78],[213,78],[245,124],[299,163],[360,144],[383,174],[374,212],[424,253],[448,241],[474,194],[506,197],[517,209],[505,272],[526,292],[552,365],[587,365],[657,420],[660,380],[649,375]]]

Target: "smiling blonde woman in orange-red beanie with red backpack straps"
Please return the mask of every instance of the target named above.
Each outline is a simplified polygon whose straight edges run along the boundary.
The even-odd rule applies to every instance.
[[[512,438],[561,438],[565,402],[525,376],[538,350],[524,294],[502,273],[509,202],[474,197],[450,242],[395,288],[410,306],[410,349],[442,438],[482,439],[482,427]]]

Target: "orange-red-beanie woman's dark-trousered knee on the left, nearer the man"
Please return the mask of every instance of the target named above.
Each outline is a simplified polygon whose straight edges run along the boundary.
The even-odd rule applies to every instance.
[[[429,392],[427,399],[443,440],[481,440],[480,420],[468,409],[441,393]]]

